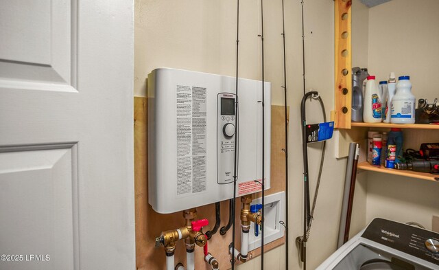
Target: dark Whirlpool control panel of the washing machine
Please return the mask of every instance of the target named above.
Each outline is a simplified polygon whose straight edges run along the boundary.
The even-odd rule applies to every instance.
[[[439,265],[439,234],[436,232],[375,218],[361,237]]]

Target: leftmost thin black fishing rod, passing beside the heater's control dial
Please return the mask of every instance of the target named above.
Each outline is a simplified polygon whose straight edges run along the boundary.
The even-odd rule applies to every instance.
[[[233,161],[233,201],[232,207],[230,207],[230,211],[232,211],[231,219],[232,219],[232,243],[230,246],[232,247],[232,258],[230,259],[230,263],[232,264],[232,270],[235,270],[235,210],[236,210],[236,182],[238,179],[237,176],[237,164],[238,164],[238,141],[239,141],[239,113],[238,113],[238,67],[239,67],[239,0],[237,0],[237,23],[236,23],[236,92],[235,92],[235,160]]]

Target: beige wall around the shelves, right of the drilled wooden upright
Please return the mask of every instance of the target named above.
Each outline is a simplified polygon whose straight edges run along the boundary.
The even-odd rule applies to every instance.
[[[356,5],[357,4],[357,5]],[[439,98],[434,83],[439,61],[439,1],[394,0],[374,8],[353,3],[353,66],[368,67],[379,80],[410,75],[416,98]],[[357,33],[361,32],[361,33]],[[404,131],[405,148],[418,148],[420,142],[438,142],[438,131]],[[431,229],[431,216],[439,215],[437,183],[361,172],[353,222],[361,227],[380,216],[395,221],[416,221]],[[361,214],[361,207],[366,216]],[[364,224],[366,224],[364,223]],[[364,226],[364,225],[363,225]]]

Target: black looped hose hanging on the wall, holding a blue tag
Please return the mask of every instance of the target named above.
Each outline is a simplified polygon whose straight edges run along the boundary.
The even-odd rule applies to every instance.
[[[320,187],[320,179],[322,178],[322,170],[324,164],[324,153],[326,151],[326,141],[322,144],[322,155],[320,157],[320,168],[317,177],[316,190],[314,192],[312,210],[310,210],[310,194],[309,194],[309,173],[308,173],[308,148],[307,148],[307,133],[306,133],[306,100],[308,98],[313,98],[319,101],[320,107],[322,109],[324,122],[327,122],[327,115],[324,109],[324,104],[322,98],[317,91],[309,91],[305,93],[300,104],[300,114],[302,118],[302,152],[303,152],[303,183],[304,183],[304,204],[303,204],[303,235],[296,238],[296,244],[298,245],[300,253],[300,261],[303,262],[303,270],[307,268],[307,241],[309,235],[311,234],[311,224],[313,221],[314,210],[316,209],[316,203],[318,198],[318,190]]]

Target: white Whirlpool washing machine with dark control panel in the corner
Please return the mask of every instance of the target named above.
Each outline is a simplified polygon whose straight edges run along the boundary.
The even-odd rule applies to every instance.
[[[439,234],[375,218],[317,269],[439,269]]]

